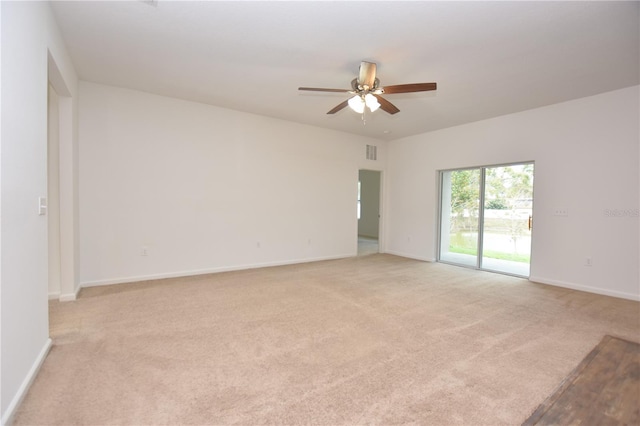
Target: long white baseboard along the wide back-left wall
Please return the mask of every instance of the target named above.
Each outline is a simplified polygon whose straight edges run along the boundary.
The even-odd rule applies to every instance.
[[[353,256],[354,256],[353,253],[349,253],[349,254],[341,254],[337,256],[287,260],[287,261],[281,261],[281,262],[253,263],[249,265],[223,266],[218,268],[196,269],[196,270],[190,270],[190,271],[168,272],[168,273],[162,273],[162,274],[136,275],[131,277],[116,278],[116,279],[85,281],[80,283],[80,288],[97,287],[102,285],[113,285],[113,284],[125,284],[125,283],[132,283],[132,282],[138,282],[138,281],[161,280],[165,278],[190,277],[194,275],[216,274],[219,272],[242,271],[246,269],[268,268],[272,266],[295,265],[299,263],[321,262],[324,260],[344,259],[344,258],[353,257]],[[60,300],[62,300],[62,298]]]

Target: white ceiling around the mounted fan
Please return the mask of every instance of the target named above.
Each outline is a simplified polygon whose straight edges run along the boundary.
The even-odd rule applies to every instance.
[[[54,2],[81,79],[392,140],[637,85],[639,2]],[[400,113],[340,93],[362,60]]]

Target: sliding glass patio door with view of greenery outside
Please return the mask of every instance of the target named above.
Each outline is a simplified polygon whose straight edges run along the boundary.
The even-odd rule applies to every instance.
[[[440,172],[438,261],[528,277],[534,164]]]

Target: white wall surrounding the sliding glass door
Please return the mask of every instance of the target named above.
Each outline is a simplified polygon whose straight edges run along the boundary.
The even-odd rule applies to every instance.
[[[639,207],[638,99],[636,86],[391,142],[387,251],[435,258],[438,170],[534,160],[531,280],[640,299],[638,217],[605,215]]]

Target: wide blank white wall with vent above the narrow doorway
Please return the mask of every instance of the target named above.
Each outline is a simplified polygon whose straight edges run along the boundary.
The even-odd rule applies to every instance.
[[[355,255],[358,169],[382,168],[386,152],[379,140],[87,82],[79,137],[83,285]]]

